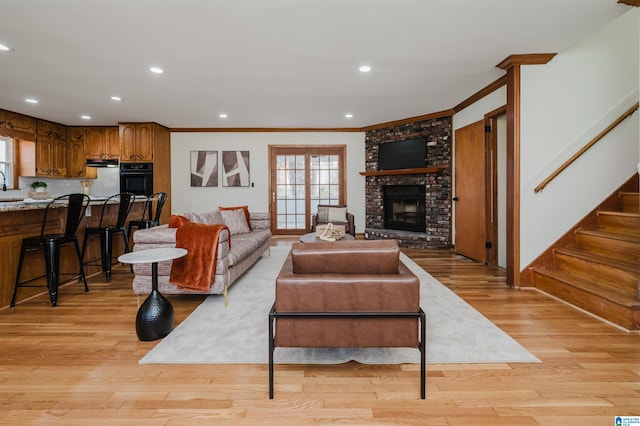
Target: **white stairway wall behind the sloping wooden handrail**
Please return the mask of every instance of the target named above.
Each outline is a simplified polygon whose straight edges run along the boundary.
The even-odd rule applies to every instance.
[[[638,101],[638,14],[633,8],[544,66],[522,67],[522,268],[636,171],[637,112],[534,193],[557,166]]]

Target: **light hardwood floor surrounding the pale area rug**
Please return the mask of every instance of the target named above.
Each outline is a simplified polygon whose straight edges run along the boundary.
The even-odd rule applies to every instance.
[[[269,400],[267,365],[138,365],[156,342],[136,338],[132,274],[120,267],[110,284],[92,277],[89,293],[62,288],[56,308],[43,294],[0,310],[0,424],[557,426],[640,416],[640,335],[509,289],[497,268],[405,253],[542,363],[429,364],[426,400],[418,365],[278,365]],[[170,300],[179,323],[202,297]]]

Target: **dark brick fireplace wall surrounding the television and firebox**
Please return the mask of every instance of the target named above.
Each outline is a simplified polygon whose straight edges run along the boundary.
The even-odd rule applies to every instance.
[[[420,137],[427,139],[427,167],[449,166],[451,117],[447,116],[367,131],[366,171],[378,170],[380,144]],[[384,194],[387,187],[424,188],[424,206],[416,209],[424,214],[424,220],[417,220],[420,226],[424,225],[424,230],[407,230],[406,226],[393,220],[387,220],[385,225]],[[422,192],[418,193],[421,197]],[[365,197],[365,238],[396,239],[401,247],[408,248],[451,247],[451,176],[448,167],[429,173],[402,174],[394,170],[393,174],[367,176]],[[389,208],[388,201],[386,207]],[[407,212],[413,210],[410,207]]]

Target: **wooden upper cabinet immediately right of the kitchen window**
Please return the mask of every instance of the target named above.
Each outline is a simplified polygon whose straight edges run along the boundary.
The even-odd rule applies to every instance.
[[[67,176],[67,128],[49,121],[37,121],[36,176]]]

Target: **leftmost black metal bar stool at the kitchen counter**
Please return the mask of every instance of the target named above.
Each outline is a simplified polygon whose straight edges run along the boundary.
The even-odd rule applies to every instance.
[[[49,202],[44,209],[44,218],[42,220],[42,228],[40,235],[35,237],[27,237],[22,239],[22,246],[20,248],[20,260],[18,262],[18,272],[16,273],[16,283],[13,290],[13,297],[11,298],[11,307],[16,305],[16,294],[18,293],[18,287],[39,287],[38,285],[27,285],[28,283],[35,281],[43,276],[38,276],[27,281],[20,282],[20,273],[22,272],[22,264],[24,262],[25,254],[34,250],[44,250],[45,269],[47,277],[47,287],[49,288],[49,296],[51,298],[51,306],[56,306],[58,303],[58,286],[60,284],[60,275],[74,275],[73,278],[82,279],[84,283],[84,291],[89,291],[87,286],[87,280],[84,275],[84,268],[82,265],[82,255],[80,254],[80,245],[78,244],[78,226],[84,216],[84,212],[89,204],[89,196],[85,194],[68,194],[62,195]],[[65,221],[65,228],[63,234],[46,234],[47,216],[51,211],[51,207],[54,205],[62,205],[67,207],[67,218]],[[75,247],[76,255],[78,257],[78,264],[80,270],[77,274],[61,273],[60,272],[60,247],[64,244],[73,244]]]

